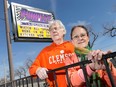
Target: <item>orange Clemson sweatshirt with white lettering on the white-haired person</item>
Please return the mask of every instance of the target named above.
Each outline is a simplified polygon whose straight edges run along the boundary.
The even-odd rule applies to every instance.
[[[29,72],[31,75],[36,74],[36,70],[39,67],[46,67],[48,70],[52,70],[55,68],[59,68],[64,66],[65,58],[69,58],[74,54],[74,46],[71,42],[66,41],[60,45],[52,43],[51,45],[45,47],[37,56],[31,67],[29,68]],[[58,83],[58,87],[67,87],[65,71],[57,71],[56,79]],[[50,87],[54,86],[54,77],[52,73],[48,74],[48,80]]]

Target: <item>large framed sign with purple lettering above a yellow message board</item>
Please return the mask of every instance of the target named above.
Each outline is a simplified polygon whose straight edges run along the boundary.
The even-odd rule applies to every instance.
[[[52,12],[11,2],[14,41],[51,42],[48,22]]]

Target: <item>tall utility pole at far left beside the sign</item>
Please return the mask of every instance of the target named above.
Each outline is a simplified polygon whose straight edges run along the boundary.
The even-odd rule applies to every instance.
[[[8,62],[9,62],[9,70],[10,70],[10,80],[13,81],[14,69],[12,62],[12,48],[11,48],[10,27],[9,27],[9,19],[8,19],[8,0],[4,0],[4,17],[6,24],[6,40],[7,40]]]

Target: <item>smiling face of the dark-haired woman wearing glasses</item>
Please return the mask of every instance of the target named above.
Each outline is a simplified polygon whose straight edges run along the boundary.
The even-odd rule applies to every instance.
[[[88,42],[89,36],[87,32],[81,27],[76,27],[72,32],[72,43],[76,47],[86,47],[88,46]]]

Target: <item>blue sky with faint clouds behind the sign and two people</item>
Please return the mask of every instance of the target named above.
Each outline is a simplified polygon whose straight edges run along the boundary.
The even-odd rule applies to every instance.
[[[116,27],[116,0],[8,0],[11,2],[40,8],[54,13],[55,19],[61,20],[67,30],[65,40],[70,40],[72,26],[78,24],[91,25],[94,32],[99,33],[93,49],[116,51],[116,37],[102,36],[104,24]],[[10,33],[12,37],[11,11],[9,12]],[[12,61],[14,69],[22,66],[27,58],[34,60],[38,53],[49,42],[14,42],[11,40]],[[6,43],[6,27],[4,20],[4,0],[0,0],[0,77],[4,69],[9,68]]]

